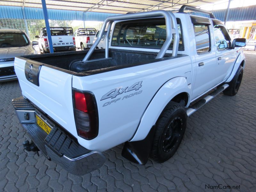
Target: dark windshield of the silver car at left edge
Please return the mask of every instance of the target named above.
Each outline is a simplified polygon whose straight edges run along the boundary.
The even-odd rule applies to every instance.
[[[0,48],[27,45],[29,45],[29,41],[24,33],[0,33]]]

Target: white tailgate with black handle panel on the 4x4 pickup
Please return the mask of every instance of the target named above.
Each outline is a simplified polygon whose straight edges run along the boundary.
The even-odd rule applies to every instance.
[[[15,58],[14,68],[22,95],[76,136],[72,74],[22,57]],[[30,77],[28,77],[29,74]]]

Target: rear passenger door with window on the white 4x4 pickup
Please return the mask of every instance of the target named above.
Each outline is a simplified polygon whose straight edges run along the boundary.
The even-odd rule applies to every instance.
[[[218,64],[214,50],[214,41],[210,20],[191,16],[195,38],[194,54],[196,60],[196,81],[192,100],[214,87],[220,81],[216,71]]]

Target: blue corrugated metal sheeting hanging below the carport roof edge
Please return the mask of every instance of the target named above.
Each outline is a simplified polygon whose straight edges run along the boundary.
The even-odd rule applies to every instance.
[[[148,0],[147,0],[148,1]],[[42,8],[25,7],[27,19],[44,19]],[[213,11],[215,17],[224,20],[226,9]],[[256,5],[248,7],[233,8],[229,11],[228,21],[256,20]],[[193,13],[208,17],[207,14]],[[104,21],[107,17],[117,15],[114,13],[86,12],[83,16],[82,11],[68,11],[48,9],[48,17],[50,20],[88,20],[88,21]],[[21,7],[0,6],[0,18],[23,19]]]

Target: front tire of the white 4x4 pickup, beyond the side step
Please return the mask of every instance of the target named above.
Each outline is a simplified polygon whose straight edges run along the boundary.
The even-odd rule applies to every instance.
[[[229,87],[223,91],[224,95],[228,96],[234,96],[239,90],[240,84],[242,82],[244,69],[240,65],[239,68],[236,71],[235,76],[233,79],[229,82]]]

